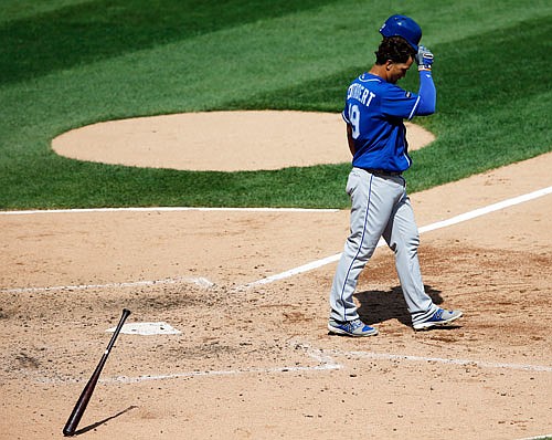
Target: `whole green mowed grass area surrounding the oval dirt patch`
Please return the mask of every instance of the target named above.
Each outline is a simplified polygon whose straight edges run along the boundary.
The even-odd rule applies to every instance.
[[[413,153],[411,191],[552,149],[548,1],[42,3],[2,1],[0,209],[347,207],[349,164],[141,169],[59,157],[50,143],[71,128],[141,115],[340,112],[349,82],[373,61],[378,27],[396,11],[417,19],[436,54],[438,112],[416,123],[438,138]],[[416,76],[403,87],[417,90]],[[344,139],[337,147],[347,148]]]

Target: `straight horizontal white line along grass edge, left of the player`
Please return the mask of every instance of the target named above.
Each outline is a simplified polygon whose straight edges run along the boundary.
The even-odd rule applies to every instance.
[[[322,208],[202,208],[202,207],[150,207],[150,208],[83,208],[83,209],[34,209],[23,211],[0,211],[0,216],[31,216],[50,213],[95,213],[95,212],[338,212],[339,209]]]

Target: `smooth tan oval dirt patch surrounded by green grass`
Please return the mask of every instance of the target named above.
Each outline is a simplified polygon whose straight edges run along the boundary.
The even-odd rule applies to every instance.
[[[434,140],[406,123],[410,149]],[[61,156],[135,167],[181,170],[272,170],[351,160],[340,114],[203,112],[110,121],[52,142]]]

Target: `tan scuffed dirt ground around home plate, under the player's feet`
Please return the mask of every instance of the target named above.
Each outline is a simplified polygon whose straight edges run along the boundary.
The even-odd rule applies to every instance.
[[[465,317],[413,332],[382,248],[355,295],[381,334],[361,341],[326,331],[335,263],[251,284],[339,253],[348,211],[0,214],[0,439],[62,437],[124,307],[181,334],[119,336],[82,438],[551,433],[552,195],[437,228],[550,188],[551,168],[548,154],[413,195],[426,289]]]

